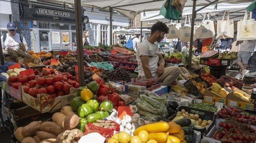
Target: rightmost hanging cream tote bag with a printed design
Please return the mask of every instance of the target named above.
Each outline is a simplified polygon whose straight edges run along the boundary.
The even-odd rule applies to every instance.
[[[254,19],[247,20],[248,10],[246,10],[244,19],[237,22],[237,41],[256,40],[256,21]]]

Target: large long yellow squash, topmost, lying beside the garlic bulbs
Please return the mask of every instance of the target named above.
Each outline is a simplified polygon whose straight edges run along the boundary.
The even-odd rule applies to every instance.
[[[142,125],[137,128],[133,134],[138,135],[141,130],[146,130],[148,133],[154,132],[164,132],[169,129],[169,124],[167,122],[161,121],[151,124]]]

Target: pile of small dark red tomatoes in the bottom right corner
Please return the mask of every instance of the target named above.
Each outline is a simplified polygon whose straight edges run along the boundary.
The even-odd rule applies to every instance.
[[[248,124],[226,119],[219,126],[222,128],[215,130],[212,137],[222,143],[255,143],[256,130]]]

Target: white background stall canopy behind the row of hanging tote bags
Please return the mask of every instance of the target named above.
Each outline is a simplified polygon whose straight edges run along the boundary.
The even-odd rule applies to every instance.
[[[196,14],[196,19],[195,21],[201,21],[203,19],[204,13],[209,12],[210,13],[210,19],[213,21],[221,20],[223,18],[223,11],[224,10],[229,10],[230,12],[230,19],[233,20],[241,20],[243,19],[243,16],[246,11],[246,7],[248,7],[251,4],[251,2],[246,2],[242,4],[227,4],[227,3],[219,3],[217,5],[217,9],[215,8],[214,5],[210,5],[206,8],[203,8]],[[202,6],[196,6],[196,10],[201,8]],[[152,11],[152,12],[145,12],[141,13],[141,21],[145,22],[157,22],[157,21],[163,21],[163,22],[170,22],[170,20],[165,19],[163,15],[159,15],[160,11]],[[192,14],[192,7],[184,7],[182,15],[185,17],[186,15],[191,15]],[[144,16],[145,15],[145,16]],[[180,20],[181,23],[184,22],[183,20]]]

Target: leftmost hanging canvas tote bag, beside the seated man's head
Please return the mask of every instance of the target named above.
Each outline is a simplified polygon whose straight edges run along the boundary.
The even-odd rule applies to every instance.
[[[171,20],[171,24],[168,25],[168,28],[169,28],[169,33],[166,34],[167,39],[179,38],[179,28],[181,28],[181,23],[175,23],[175,22],[172,22]]]

